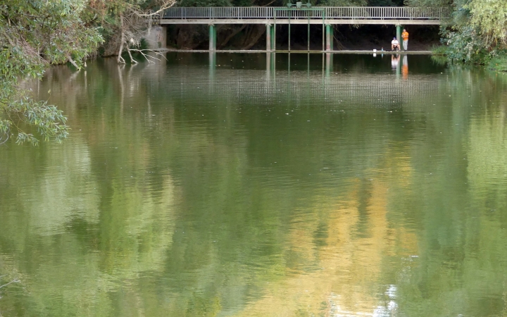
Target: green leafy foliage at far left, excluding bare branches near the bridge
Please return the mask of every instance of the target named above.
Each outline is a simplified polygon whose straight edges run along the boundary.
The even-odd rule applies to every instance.
[[[35,101],[20,88],[25,77],[40,79],[52,63],[77,68],[94,54],[101,37],[81,18],[86,1],[6,0],[0,5],[0,139],[37,144],[67,137],[66,118],[55,106]],[[27,129],[26,131],[24,129]],[[0,141],[1,142],[1,141]]]

